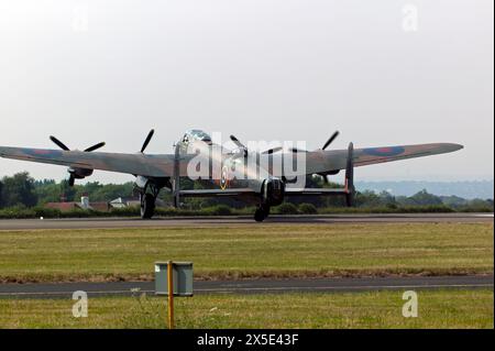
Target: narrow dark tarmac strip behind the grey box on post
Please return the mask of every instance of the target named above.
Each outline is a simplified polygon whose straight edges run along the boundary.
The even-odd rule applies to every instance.
[[[414,277],[362,277],[324,279],[241,279],[195,281],[195,294],[280,294],[280,293],[332,293],[408,290],[438,288],[492,288],[493,275],[477,276],[414,276]],[[53,283],[53,284],[0,284],[3,298],[72,298],[76,290],[88,296],[154,294],[154,282],[108,283]]]

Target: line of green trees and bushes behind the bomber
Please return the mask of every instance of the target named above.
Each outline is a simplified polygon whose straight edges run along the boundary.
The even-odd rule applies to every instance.
[[[337,183],[324,184],[319,176],[308,176],[308,187],[342,187]],[[182,180],[183,188],[205,188],[189,179]],[[26,207],[32,208],[43,206],[47,202],[79,201],[82,195],[87,195],[91,201],[111,201],[119,197],[136,197],[133,183],[124,184],[100,184],[99,182],[88,182],[84,185],[76,184],[74,187],[67,180],[55,182],[54,179],[36,180],[28,172],[18,173],[13,176],[4,176],[0,180],[0,208]],[[161,191],[160,198],[165,204],[172,204],[172,196],[167,191]],[[292,197],[287,202],[296,206],[310,204],[316,208],[343,207],[344,200],[341,197]],[[186,199],[184,207],[187,209],[201,209],[218,205],[227,205],[241,209],[246,204],[234,198],[196,198]],[[358,191],[355,197],[356,207],[361,208],[398,208],[415,206],[447,206],[453,209],[483,209],[494,208],[493,199],[466,200],[457,196],[437,196],[427,190],[418,191],[413,196],[394,196],[387,191],[375,193],[372,190]]]

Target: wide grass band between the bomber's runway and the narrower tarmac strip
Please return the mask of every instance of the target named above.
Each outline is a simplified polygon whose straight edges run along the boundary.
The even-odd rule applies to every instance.
[[[0,232],[0,282],[493,273],[493,223],[232,224]]]

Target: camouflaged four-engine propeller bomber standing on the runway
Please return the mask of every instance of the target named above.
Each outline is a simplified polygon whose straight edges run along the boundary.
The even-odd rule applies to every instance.
[[[190,130],[175,144],[174,153],[145,154],[153,134],[154,130],[151,130],[141,151],[135,154],[95,152],[105,145],[103,142],[84,151],[69,150],[51,136],[61,150],[0,146],[0,156],[67,166],[69,185],[74,185],[75,179],[90,176],[94,169],[132,174],[141,197],[143,219],[153,216],[158,193],[166,188],[174,195],[175,206],[179,206],[182,197],[232,196],[254,202],[257,206],[254,219],[263,221],[272,206],[282,204],[289,196],[343,196],[346,205],[352,206],[354,167],[449,153],[463,147],[452,143],[433,143],[354,149],[350,143],[346,150],[327,150],[339,134],[334,132],[321,149],[315,151],[283,150],[278,146],[255,152],[231,135],[231,141],[237,145],[231,151],[213,143],[204,131]],[[299,158],[302,160],[301,167],[296,164]],[[198,171],[201,167],[202,173]],[[328,182],[327,176],[342,169],[345,169],[345,186],[342,189],[306,188],[298,186],[297,179],[294,180],[317,174]],[[197,173],[195,177],[191,177],[191,171]],[[182,189],[182,177],[194,178],[210,188]]]

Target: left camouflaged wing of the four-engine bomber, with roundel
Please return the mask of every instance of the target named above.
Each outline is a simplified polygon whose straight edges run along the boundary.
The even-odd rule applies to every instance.
[[[73,168],[101,169],[148,177],[169,177],[174,174],[173,154],[123,154],[0,146],[0,156]],[[182,174],[186,172],[186,162],[180,162],[180,168]]]

